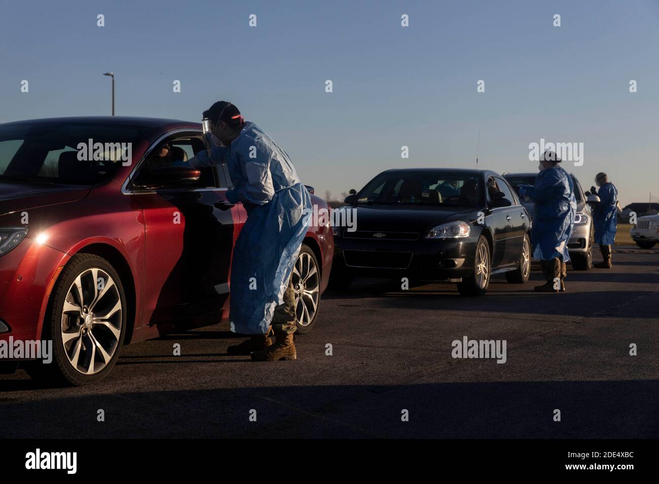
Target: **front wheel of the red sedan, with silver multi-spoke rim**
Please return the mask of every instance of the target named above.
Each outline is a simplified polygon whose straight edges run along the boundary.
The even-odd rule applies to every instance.
[[[86,385],[107,377],[123,346],[127,309],[114,267],[98,255],[74,255],[53,286],[43,322],[42,339],[53,342],[53,361],[32,362],[26,371],[55,385]]]

